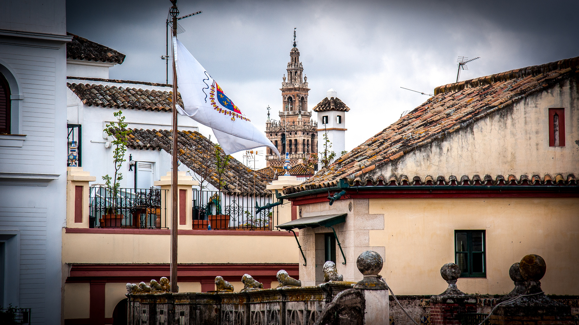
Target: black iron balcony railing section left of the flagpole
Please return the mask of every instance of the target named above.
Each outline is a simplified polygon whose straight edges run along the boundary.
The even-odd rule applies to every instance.
[[[91,186],[90,228],[162,229],[167,226],[168,190]]]

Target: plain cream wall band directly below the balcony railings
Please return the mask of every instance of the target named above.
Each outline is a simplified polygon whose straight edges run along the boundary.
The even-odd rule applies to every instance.
[[[168,234],[75,234],[63,229],[63,263],[169,263],[169,244]],[[178,245],[179,263],[298,263],[293,236],[179,235]]]

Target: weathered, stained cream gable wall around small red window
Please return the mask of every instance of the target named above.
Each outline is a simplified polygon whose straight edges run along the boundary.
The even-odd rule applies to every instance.
[[[430,145],[413,150],[400,159],[368,173],[372,178],[382,175],[415,175],[422,180],[427,175],[436,178],[450,175],[490,174],[505,178],[513,174],[529,177],[545,173],[563,177],[579,175],[579,108],[577,84],[566,80],[560,86],[531,95],[512,108],[502,109],[477,121],[474,125],[459,128]],[[566,144],[549,147],[548,109],[565,108]]]

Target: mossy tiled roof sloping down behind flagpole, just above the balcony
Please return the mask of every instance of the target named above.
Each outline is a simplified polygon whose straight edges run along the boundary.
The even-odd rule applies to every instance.
[[[171,153],[173,132],[168,130],[130,129],[127,146],[131,149],[165,150]],[[206,181],[218,187],[219,178],[215,172],[215,143],[196,131],[179,131],[178,133],[179,161],[185,164],[197,175],[207,175]],[[225,156],[223,150],[221,154]],[[254,187],[254,174],[255,187]],[[221,176],[225,189],[229,192],[265,192],[267,180],[261,173],[255,173],[245,167],[239,160],[230,157],[229,165]]]

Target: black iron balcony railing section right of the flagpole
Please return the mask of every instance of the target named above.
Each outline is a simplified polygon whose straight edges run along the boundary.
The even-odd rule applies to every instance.
[[[277,215],[272,209],[255,213],[272,203],[271,193],[193,191],[193,229],[274,230]]]

